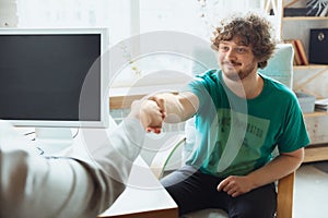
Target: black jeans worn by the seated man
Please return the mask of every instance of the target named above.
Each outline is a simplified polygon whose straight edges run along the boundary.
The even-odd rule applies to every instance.
[[[232,197],[216,191],[222,179],[185,166],[161,180],[179,208],[179,215],[206,208],[224,209],[231,218],[272,218],[277,209],[274,183]]]

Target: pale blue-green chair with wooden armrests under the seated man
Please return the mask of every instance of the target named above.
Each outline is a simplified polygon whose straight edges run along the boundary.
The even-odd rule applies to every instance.
[[[279,44],[274,56],[269,60],[267,68],[259,70],[262,74],[271,76],[288,87],[292,88],[294,51],[289,44]],[[185,134],[177,134],[166,141],[162,147],[165,150],[157,153],[152,162],[151,170],[161,179],[171,157],[179,146],[186,143]],[[292,218],[293,214],[293,191],[295,172],[277,181],[277,218]],[[204,209],[185,215],[184,218],[226,218],[227,214],[221,209]]]

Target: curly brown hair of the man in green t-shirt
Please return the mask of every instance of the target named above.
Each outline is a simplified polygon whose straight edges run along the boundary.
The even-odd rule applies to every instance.
[[[234,37],[237,37],[245,46],[250,45],[254,56],[259,60],[258,68],[260,69],[267,66],[276,48],[271,23],[265,16],[251,12],[222,20],[213,34],[211,47],[216,51],[222,40],[232,40]]]

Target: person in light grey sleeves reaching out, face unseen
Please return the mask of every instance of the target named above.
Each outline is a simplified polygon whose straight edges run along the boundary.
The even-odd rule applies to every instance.
[[[144,130],[149,125],[160,130],[162,122],[154,101],[133,102],[130,114],[108,141],[93,142],[98,154],[90,154],[93,159],[89,160],[39,156],[1,121],[0,217],[96,217],[124,191],[142,148]]]

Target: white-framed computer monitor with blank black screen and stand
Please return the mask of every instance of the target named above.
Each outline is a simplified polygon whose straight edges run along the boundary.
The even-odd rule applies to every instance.
[[[0,119],[37,140],[107,126],[106,45],[105,28],[0,29]]]

